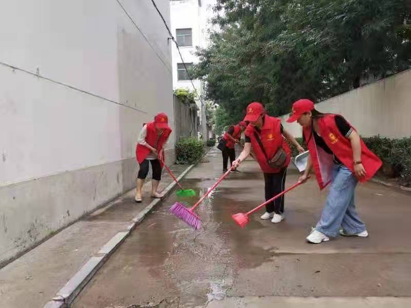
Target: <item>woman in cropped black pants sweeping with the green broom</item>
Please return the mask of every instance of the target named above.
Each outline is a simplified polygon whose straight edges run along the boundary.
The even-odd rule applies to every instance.
[[[140,165],[136,183],[136,202],[142,201],[141,190],[148,174],[148,161],[150,161],[153,169],[151,196],[153,198],[161,198],[163,196],[157,191],[157,188],[161,180],[161,170],[163,168],[161,162],[161,160],[164,159],[163,147],[172,132],[168,122],[167,115],[161,112],[156,115],[153,122],[144,125],[140,132],[139,142],[136,148],[137,162]],[[159,157],[161,160],[159,160]]]

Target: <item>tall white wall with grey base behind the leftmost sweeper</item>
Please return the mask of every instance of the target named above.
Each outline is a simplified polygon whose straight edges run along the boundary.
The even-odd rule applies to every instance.
[[[169,35],[150,1],[120,3],[139,29],[114,0],[0,4],[0,263],[132,188],[157,112],[174,127]]]

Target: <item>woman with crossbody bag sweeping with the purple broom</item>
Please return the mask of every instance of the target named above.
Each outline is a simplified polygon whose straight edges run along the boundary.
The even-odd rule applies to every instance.
[[[281,120],[266,114],[263,105],[251,103],[247,107],[244,121],[250,121],[246,129],[246,143],[240,156],[233,162],[237,167],[254,150],[255,158],[264,172],[266,200],[278,195],[285,188],[287,166],[291,160],[291,151],[284,137],[292,142],[300,152],[304,149],[281,125]],[[284,137],[283,137],[284,136]],[[284,219],[284,197],[266,205],[266,213],[261,219],[272,218],[272,223]]]

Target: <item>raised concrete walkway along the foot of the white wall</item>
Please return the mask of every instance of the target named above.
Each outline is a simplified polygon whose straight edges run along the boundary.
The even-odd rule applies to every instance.
[[[188,166],[174,165],[179,176]],[[164,170],[165,171],[165,170]],[[163,172],[160,189],[173,182]],[[90,257],[153,201],[151,181],[144,185],[142,203],[134,202],[134,190],[72,224],[27,254],[0,269],[1,308],[41,308]]]

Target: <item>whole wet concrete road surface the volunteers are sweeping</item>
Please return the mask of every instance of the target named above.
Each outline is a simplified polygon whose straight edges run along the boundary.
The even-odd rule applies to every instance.
[[[200,196],[221,176],[219,151],[212,149],[207,160],[182,182]],[[395,298],[411,296],[411,194],[375,183],[361,185],[357,204],[370,237],[340,237],[313,245],[305,237],[320,216],[327,192],[320,193],[311,180],[286,195],[283,222],[261,221],[262,213],[257,213],[240,229],[231,215],[264,201],[258,165],[248,160],[240,169],[199,206],[203,226],[198,231],[169,214],[174,202],[193,205],[198,197],[173,195],[163,201],[73,306],[411,305],[407,298]],[[287,186],[297,177],[290,169]]]

